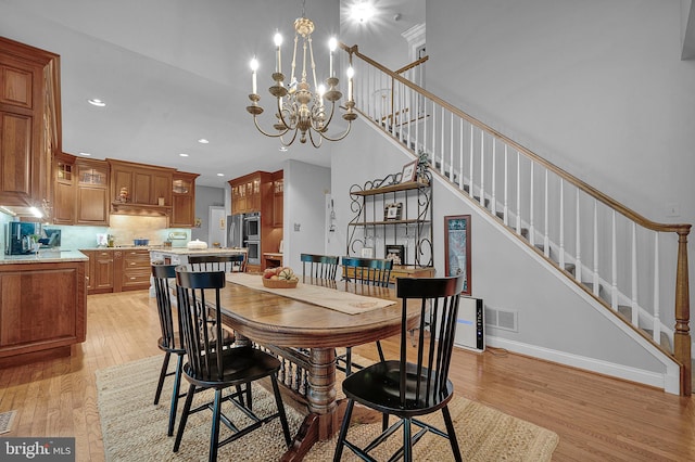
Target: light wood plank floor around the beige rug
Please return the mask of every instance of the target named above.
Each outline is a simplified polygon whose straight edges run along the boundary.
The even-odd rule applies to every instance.
[[[102,461],[94,371],[161,354],[157,337],[148,292],[90,295],[71,358],[0,371],[0,412],[18,411],[2,436],[75,436],[78,461]],[[376,359],[371,345],[355,352]],[[556,432],[556,461],[695,460],[693,397],[500,350],[456,350],[452,369],[456,394]]]

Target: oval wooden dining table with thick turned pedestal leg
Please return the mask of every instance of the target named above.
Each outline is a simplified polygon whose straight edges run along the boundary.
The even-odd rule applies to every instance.
[[[258,277],[261,278],[261,277]],[[323,282],[308,280],[303,283]],[[305,418],[285,461],[296,461],[308,452],[317,440],[330,439],[340,428],[342,412],[336,399],[336,348],[362,345],[387,338],[401,332],[401,303],[391,287],[375,287],[344,281],[330,282],[337,292],[359,294],[392,300],[386,308],[345,313],[309,301],[292,298],[286,288],[269,293],[233,282],[228,278],[220,291],[224,325],[232,329],[238,338],[260,345],[292,347],[308,350],[308,389]],[[419,307],[408,306],[406,324],[415,326]]]

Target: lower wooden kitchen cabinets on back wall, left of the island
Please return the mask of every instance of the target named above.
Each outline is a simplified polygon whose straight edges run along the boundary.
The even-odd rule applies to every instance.
[[[150,287],[150,251],[104,248],[80,252],[89,257],[88,294],[139,291]]]

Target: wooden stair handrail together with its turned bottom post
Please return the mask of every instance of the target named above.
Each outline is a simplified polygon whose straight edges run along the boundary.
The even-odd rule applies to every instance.
[[[410,88],[412,90],[414,90],[415,92],[424,95],[425,98],[429,99],[430,101],[439,104],[441,107],[447,110],[450,113],[457,115],[458,117],[460,117],[462,119],[467,120],[469,124],[471,124],[471,126],[477,127],[478,129],[485,131],[488,133],[490,133],[491,136],[493,136],[494,138],[503,141],[506,145],[511,146],[513,149],[517,150],[519,153],[522,153],[525,156],[527,156],[529,159],[531,159],[532,162],[542,165],[543,167],[545,167],[547,170],[554,172],[555,175],[557,175],[559,178],[561,178],[563,180],[569,182],[570,184],[573,184],[574,187],[577,187],[579,190],[583,191],[584,193],[586,193],[587,195],[594,197],[596,201],[605,204],[606,206],[608,206],[609,208],[618,211],[619,214],[623,215],[624,217],[627,217],[629,220],[637,223],[639,226],[652,230],[652,231],[656,231],[656,232],[674,232],[678,234],[679,236],[679,244],[678,244],[678,261],[677,261],[677,272],[675,272],[675,306],[674,306],[674,313],[675,313],[675,326],[674,326],[674,348],[673,348],[673,358],[674,360],[680,364],[680,372],[681,372],[681,377],[680,377],[680,392],[681,395],[683,396],[688,396],[692,394],[692,380],[691,380],[691,373],[692,373],[692,351],[691,351],[691,334],[690,334],[690,280],[688,280],[688,270],[687,270],[687,235],[691,231],[691,227],[692,224],[690,223],[659,223],[656,221],[652,221],[647,218],[645,218],[644,216],[637,214],[636,211],[632,210],[631,208],[626,207],[624,205],[620,204],[619,202],[617,202],[616,200],[614,200],[612,197],[607,196],[606,194],[602,193],[601,191],[596,190],[595,188],[591,187],[590,184],[585,183],[584,181],[580,180],[579,178],[574,177],[573,175],[567,172],[566,170],[561,169],[560,167],[552,164],[551,162],[544,159],[543,157],[540,157],[538,154],[533,153],[532,151],[528,150],[527,147],[522,146],[521,144],[517,143],[516,141],[507,138],[506,136],[502,134],[501,132],[498,132],[497,130],[493,129],[492,127],[488,126],[486,124],[483,124],[482,121],[476,119],[475,117],[468,115],[467,113],[458,110],[457,107],[451,105],[450,103],[447,103],[446,101],[442,100],[441,98],[430,93],[429,91],[427,91],[426,89],[419,87],[416,84],[413,84],[412,81],[405,79],[404,77],[402,77],[400,75],[400,73],[403,73],[409,68],[413,68],[419,64],[421,64],[422,62],[427,61],[427,56],[425,59],[418,60],[415,63],[412,63],[396,72],[393,72],[391,69],[388,69],[387,67],[384,67],[383,65],[379,64],[378,62],[371,60],[370,57],[359,53],[358,47],[355,44],[353,47],[348,47],[344,43],[340,43],[340,47],[346,51],[350,54],[350,62],[352,63],[352,56],[353,54],[356,55],[357,57],[359,57],[361,60],[363,60],[364,62],[366,62],[367,64],[371,65],[372,67],[379,69],[380,72],[382,72],[383,74],[390,76],[393,80],[399,81],[401,85]],[[395,85],[392,85],[391,87],[391,91],[393,92],[393,89],[395,88]],[[393,98],[393,94],[392,94]]]

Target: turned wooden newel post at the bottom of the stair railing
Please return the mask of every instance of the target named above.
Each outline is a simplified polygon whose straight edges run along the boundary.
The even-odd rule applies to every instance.
[[[687,275],[687,234],[691,227],[678,231],[678,266],[675,271],[675,332],[673,334],[673,354],[683,367],[681,368],[681,396],[693,393],[691,376],[692,351],[690,334],[690,290]]]

